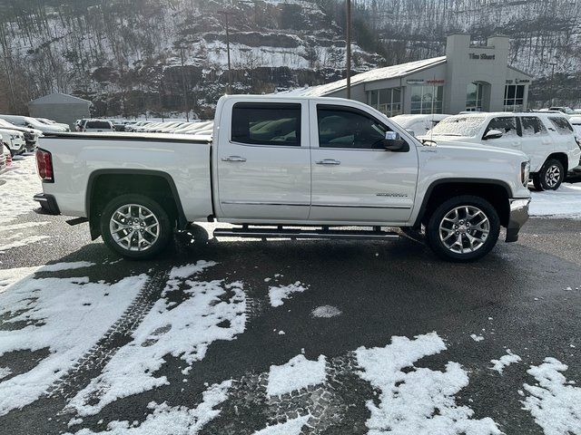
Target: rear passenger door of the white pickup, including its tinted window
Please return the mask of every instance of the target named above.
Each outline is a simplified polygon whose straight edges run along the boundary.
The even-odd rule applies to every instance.
[[[306,220],[310,209],[308,102],[226,102],[218,204],[233,222]],[[216,201],[216,200],[215,200]]]

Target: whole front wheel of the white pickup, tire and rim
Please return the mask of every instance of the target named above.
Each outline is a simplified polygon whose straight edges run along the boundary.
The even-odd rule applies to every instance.
[[[497,244],[499,234],[497,210],[486,199],[471,195],[450,198],[441,204],[429,217],[426,228],[428,246],[434,253],[458,263],[486,256]]]

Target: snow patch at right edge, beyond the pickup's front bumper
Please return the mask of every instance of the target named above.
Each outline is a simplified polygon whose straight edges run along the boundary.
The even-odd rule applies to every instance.
[[[581,183],[564,183],[557,190],[531,192],[530,216],[581,218]]]

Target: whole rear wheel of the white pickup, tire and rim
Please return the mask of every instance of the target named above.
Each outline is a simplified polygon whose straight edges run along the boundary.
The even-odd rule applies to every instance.
[[[131,225],[127,222],[128,217],[133,218]],[[146,260],[157,256],[172,240],[172,233],[172,220],[152,198],[121,195],[103,208],[103,241],[124,258]]]

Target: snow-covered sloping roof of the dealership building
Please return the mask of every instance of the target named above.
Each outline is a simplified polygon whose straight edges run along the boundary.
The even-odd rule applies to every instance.
[[[376,68],[366,73],[359,73],[351,77],[351,86],[362,82],[376,82],[378,80],[396,79],[405,77],[411,73],[418,73],[421,70],[446,63],[446,56],[432,57],[423,61],[415,61],[409,63],[400,63],[399,65],[386,66],[384,68]],[[347,79],[342,79],[337,82],[321,84],[319,86],[312,86],[310,88],[301,88],[293,90],[289,93],[295,95],[304,95],[308,97],[318,97],[328,95],[332,92],[338,92],[347,87]]]

